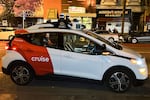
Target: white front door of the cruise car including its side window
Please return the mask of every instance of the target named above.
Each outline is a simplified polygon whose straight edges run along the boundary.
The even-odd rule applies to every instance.
[[[63,43],[64,50],[60,51],[61,74],[100,79],[103,60],[101,55],[91,53],[95,43],[91,43],[90,45],[89,39],[76,34],[65,34]]]

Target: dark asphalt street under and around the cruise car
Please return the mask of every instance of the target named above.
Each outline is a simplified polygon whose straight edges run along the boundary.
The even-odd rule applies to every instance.
[[[150,44],[123,44],[146,57],[150,67]],[[149,71],[150,72],[150,71]],[[48,80],[49,79],[49,80]],[[109,95],[109,96],[108,96]],[[125,93],[115,93],[97,81],[52,77],[38,78],[27,86],[15,85],[0,72],[0,100],[149,100],[150,80]]]

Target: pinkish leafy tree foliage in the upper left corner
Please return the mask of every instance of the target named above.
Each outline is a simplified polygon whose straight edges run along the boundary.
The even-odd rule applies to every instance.
[[[13,24],[15,17],[22,15],[23,10],[34,13],[38,7],[41,7],[42,0],[0,0],[0,6],[4,8],[3,13],[0,15],[0,20],[7,20],[8,23]],[[38,10],[39,8],[38,8]]]

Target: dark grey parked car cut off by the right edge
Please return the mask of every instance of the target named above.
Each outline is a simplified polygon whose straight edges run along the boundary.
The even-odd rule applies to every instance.
[[[150,32],[134,32],[129,34],[128,42],[138,43],[138,42],[150,42]]]

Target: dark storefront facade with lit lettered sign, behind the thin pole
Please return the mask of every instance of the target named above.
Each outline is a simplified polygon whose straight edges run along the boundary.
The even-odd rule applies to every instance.
[[[126,1],[126,3],[124,3]],[[97,0],[97,28],[113,31],[117,29],[122,32],[124,23],[124,33],[130,31],[143,31],[144,29],[144,9],[143,0]],[[125,6],[124,6],[125,5]],[[123,7],[125,12],[123,16]],[[124,19],[124,22],[122,22]]]

